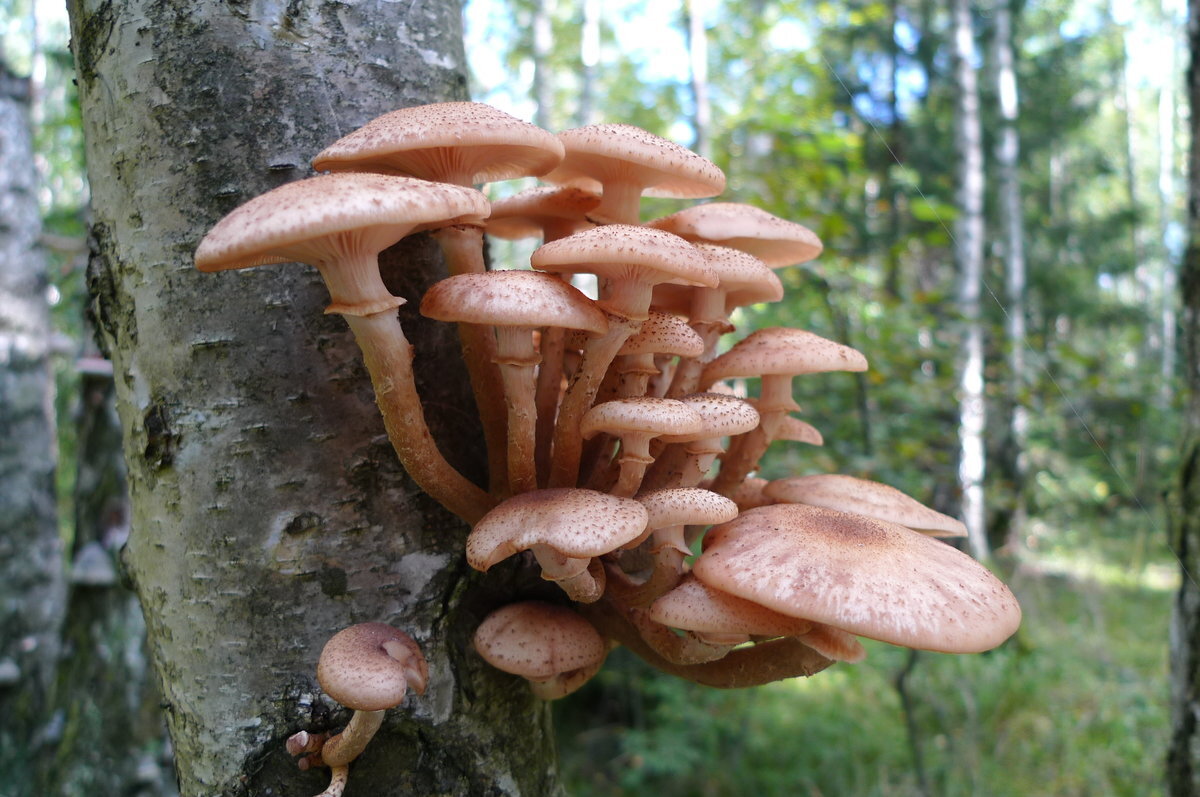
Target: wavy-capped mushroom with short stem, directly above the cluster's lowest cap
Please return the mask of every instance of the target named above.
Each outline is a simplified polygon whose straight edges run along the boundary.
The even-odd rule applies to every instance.
[[[602,568],[592,561],[646,529],[646,508],[594,490],[560,487],[514,496],[487,513],[467,537],[467,563],[487,571],[520,551],[533,551],[542,577],[580,603],[598,600]],[[601,576],[602,577],[602,576]]]

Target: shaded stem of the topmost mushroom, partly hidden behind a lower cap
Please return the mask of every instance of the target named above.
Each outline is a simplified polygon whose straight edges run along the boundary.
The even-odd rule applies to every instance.
[[[432,233],[442,247],[446,270],[451,274],[482,274],[487,270],[484,263],[484,228],[479,224],[454,224]],[[499,492],[508,487],[505,471],[508,449],[508,417],[505,408],[496,397],[502,394],[503,380],[494,362],[496,338],[492,330],[484,324],[458,324],[458,341],[462,344],[462,359],[470,377],[470,389],[475,395],[475,407],[484,427],[484,442],[487,445],[487,472],[491,491]]]

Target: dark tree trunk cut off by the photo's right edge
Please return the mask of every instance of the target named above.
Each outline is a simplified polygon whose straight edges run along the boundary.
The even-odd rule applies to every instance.
[[[1169,502],[1171,546],[1182,577],[1171,618],[1171,797],[1200,795],[1200,0],[1188,2],[1188,248],[1180,269],[1184,352],[1183,448]]]

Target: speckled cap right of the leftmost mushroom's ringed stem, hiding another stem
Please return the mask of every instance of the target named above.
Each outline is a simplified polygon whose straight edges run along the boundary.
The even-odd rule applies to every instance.
[[[439,280],[425,292],[421,314],[497,326],[562,326],[604,332],[608,319],[578,288],[538,271],[485,271]]]

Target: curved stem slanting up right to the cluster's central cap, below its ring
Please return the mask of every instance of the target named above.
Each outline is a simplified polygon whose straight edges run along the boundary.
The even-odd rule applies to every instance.
[[[605,371],[612,364],[625,340],[637,331],[641,322],[608,313],[608,331],[588,338],[583,361],[571,378],[571,384],[558,408],[554,424],[554,445],[551,457],[550,486],[574,487],[580,475],[583,438],[580,420],[595,400]]]

